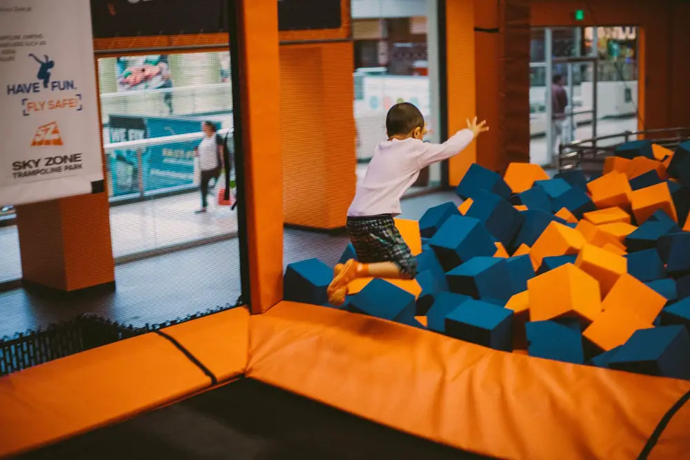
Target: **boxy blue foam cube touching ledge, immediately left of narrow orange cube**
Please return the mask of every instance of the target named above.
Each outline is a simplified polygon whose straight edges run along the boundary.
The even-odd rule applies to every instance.
[[[462,303],[446,315],[446,334],[495,350],[513,350],[513,312],[478,300]]]

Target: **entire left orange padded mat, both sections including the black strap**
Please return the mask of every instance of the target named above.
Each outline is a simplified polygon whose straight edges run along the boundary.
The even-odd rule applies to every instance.
[[[248,311],[236,308],[0,379],[0,458],[127,419],[242,374]],[[185,351],[182,351],[185,350]]]

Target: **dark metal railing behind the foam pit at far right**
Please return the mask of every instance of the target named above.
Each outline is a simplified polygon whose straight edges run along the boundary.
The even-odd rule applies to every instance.
[[[614,154],[617,146],[637,139],[649,139],[659,146],[673,150],[679,143],[690,140],[690,128],[624,131],[567,143],[558,149],[557,168],[559,172],[575,168],[586,172],[600,172],[605,159]]]

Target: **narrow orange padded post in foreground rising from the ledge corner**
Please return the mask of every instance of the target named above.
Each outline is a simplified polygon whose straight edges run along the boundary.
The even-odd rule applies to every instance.
[[[278,14],[275,0],[240,0],[242,141],[251,308],[283,297]],[[314,135],[313,132],[310,135]]]

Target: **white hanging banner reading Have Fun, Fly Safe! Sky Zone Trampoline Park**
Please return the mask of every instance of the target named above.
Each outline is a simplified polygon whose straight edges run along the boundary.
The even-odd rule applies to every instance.
[[[0,0],[0,205],[99,189],[89,0]]]

